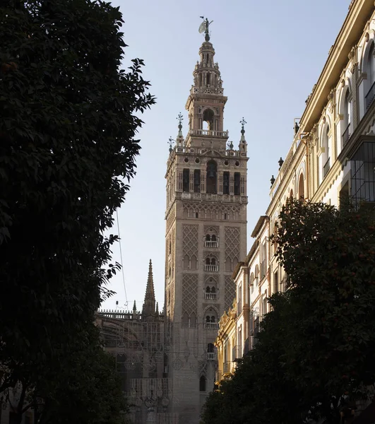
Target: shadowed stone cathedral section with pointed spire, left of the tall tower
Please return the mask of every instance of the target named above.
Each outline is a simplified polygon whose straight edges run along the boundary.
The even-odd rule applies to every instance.
[[[105,351],[116,358],[122,390],[130,406],[133,424],[173,423],[167,413],[172,399],[171,385],[164,369],[164,322],[155,305],[153,268],[150,261],[142,311],[102,310],[95,322]]]

